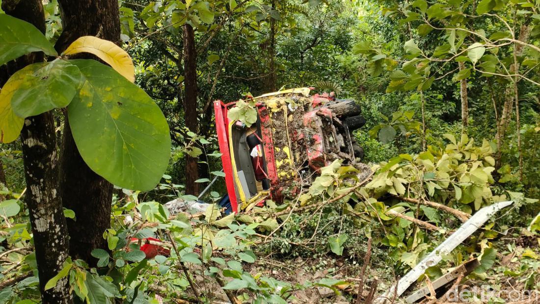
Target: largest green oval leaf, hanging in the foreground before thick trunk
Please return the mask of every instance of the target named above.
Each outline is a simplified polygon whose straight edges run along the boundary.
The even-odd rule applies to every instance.
[[[68,107],[73,139],[86,164],[112,184],[151,190],[170,157],[167,121],[156,103],[111,67],[70,60],[85,78]]]

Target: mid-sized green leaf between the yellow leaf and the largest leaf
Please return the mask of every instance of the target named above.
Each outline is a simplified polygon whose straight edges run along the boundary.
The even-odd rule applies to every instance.
[[[34,65],[38,69],[24,77],[11,98],[13,111],[23,118],[68,106],[83,81],[79,68],[66,60]]]

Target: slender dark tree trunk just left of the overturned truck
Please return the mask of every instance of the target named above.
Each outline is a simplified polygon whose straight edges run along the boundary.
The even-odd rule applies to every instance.
[[[184,25],[184,113],[186,127],[191,132],[198,132],[197,123],[197,51],[195,50],[195,32],[189,24]],[[198,158],[186,154],[186,193],[197,195],[199,184]]]

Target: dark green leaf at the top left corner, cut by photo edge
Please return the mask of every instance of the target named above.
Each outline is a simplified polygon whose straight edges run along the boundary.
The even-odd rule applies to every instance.
[[[31,52],[58,55],[47,38],[32,24],[0,13],[0,65]]]

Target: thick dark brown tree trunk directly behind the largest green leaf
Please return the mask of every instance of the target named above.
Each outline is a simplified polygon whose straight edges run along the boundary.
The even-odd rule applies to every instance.
[[[80,36],[97,36],[118,43],[120,20],[117,0],[59,0],[63,32],[55,48],[60,53]],[[95,58],[82,55],[78,58]],[[103,232],[111,225],[112,185],[93,172],[80,156],[68,116],[65,116],[60,153],[60,195],[64,207],[75,211],[68,219],[70,254],[91,266],[97,262],[90,253],[107,248]]]

